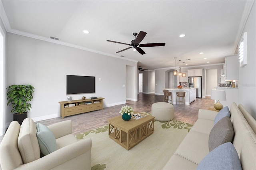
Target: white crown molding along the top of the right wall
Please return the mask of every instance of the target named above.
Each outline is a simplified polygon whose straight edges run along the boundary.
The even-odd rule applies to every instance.
[[[242,14],[242,18],[241,18],[241,21],[240,21],[238,32],[236,34],[236,39],[235,39],[235,42],[234,42],[234,49],[232,51],[233,54],[236,52],[236,49],[237,49],[238,43],[240,41],[240,38],[243,35],[243,30],[244,30],[245,24],[247,22],[248,16],[249,16],[249,14],[252,10],[252,6],[253,6],[254,2],[255,2],[255,0],[247,0],[246,1],[246,4],[244,6],[244,12]]]

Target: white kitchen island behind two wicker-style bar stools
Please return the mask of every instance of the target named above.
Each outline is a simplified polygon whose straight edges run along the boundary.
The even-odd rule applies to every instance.
[[[182,87],[182,89],[178,89],[178,88],[164,88],[163,90],[168,90],[170,92],[172,92],[172,104],[176,105],[176,92],[179,91],[185,91],[185,105],[190,105],[191,102],[196,100],[196,88],[193,87]],[[170,96],[169,96],[170,99]],[[178,103],[179,104],[179,103]]]

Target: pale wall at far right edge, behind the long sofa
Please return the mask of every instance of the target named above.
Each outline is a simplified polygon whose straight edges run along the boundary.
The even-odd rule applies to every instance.
[[[247,32],[247,65],[239,67],[239,103],[256,119],[256,3],[244,27]],[[241,35],[242,38],[242,35]]]

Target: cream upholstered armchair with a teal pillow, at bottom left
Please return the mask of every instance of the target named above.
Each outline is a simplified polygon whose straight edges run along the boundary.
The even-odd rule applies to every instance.
[[[36,125],[30,118],[22,125],[13,121],[0,144],[0,164],[2,170],[90,170],[90,138],[78,141],[72,134],[71,120],[48,126],[56,140],[56,150],[40,156],[40,146],[36,137]]]

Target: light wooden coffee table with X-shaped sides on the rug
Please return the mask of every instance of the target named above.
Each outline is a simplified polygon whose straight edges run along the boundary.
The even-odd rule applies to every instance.
[[[110,118],[108,119],[108,136],[129,150],[154,132],[154,118],[149,115],[138,120],[130,119],[130,121],[124,121],[122,116]]]

